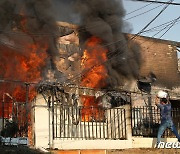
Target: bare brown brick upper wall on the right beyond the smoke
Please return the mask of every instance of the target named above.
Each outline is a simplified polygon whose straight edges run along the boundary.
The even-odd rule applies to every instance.
[[[155,85],[172,88],[180,85],[176,47],[169,41],[148,37],[135,39],[141,46],[141,76],[153,72],[157,81]],[[172,44],[172,43],[171,43]]]

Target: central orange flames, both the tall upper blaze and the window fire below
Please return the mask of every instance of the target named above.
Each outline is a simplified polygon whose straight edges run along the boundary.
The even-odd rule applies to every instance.
[[[106,86],[107,69],[105,62],[107,60],[108,50],[103,47],[102,40],[97,37],[91,37],[85,44],[81,66],[83,76],[81,86],[89,88],[103,88]],[[82,120],[83,121],[103,121],[104,111],[100,110],[94,96],[82,96],[83,102]]]

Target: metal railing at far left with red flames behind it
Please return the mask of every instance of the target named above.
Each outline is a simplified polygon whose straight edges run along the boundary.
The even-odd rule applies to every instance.
[[[0,103],[0,134],[3,137],[27,136],[27,116],[25,102]]]

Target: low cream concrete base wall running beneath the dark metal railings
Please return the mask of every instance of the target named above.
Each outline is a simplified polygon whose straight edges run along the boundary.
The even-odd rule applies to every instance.
[[[176,138],[162,138],[162,142],[177,142]],[[156,138],[132,137],[129,140],[54,140],[58,149],[129,149],[155,148]]]

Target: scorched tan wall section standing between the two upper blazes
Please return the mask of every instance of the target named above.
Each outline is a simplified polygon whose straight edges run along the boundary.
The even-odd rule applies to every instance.
[[[78,84],[81,57],[77,26],[65,22],[57,24],[62,34],[57,38],[59,56],[55,59],[56,68],[62,74],[58,80]]]

